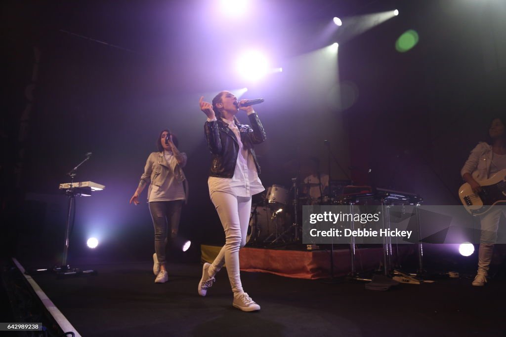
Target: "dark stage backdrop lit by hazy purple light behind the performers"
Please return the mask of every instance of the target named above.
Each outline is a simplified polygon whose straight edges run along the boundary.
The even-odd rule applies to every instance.
[[[180,232],[196,244],[190,256],[198,256],[200,243],[223,243],[208,197],[210,155],[198,99],[210,101],[222,89],[245,86],[244,98],[266,100],[257,109],[268,135],[257,150],[264,186],[289,186],[309,156],[320,158],[326,171],[327,139],[336,159],[333,178],[350,175],[356,184],[418,193],[428,204],[455,204],[461,165],[483,138],[490,116],[504,113],[501,12],[458,1],[317,3],[279,2],[280,9],[291,10],[258,21],[257,32],[244,22],[234,29],[199,24],[193,2],[4,5],[13,66],[2,178],[15,198],[4,197],[3,204],[10,242],[19,242],[17,254],[36,249],[45,252],[45,260],[59,258],[66,200],[58,183],[68,181],[65,173],[92,152],[76,180],[106,188],[77,200],[71,256],[149,258],[153,229],[147,204],[128,201],[165,127],[178,135],[189,157],[190,200]],[[342,105],[332,104],[332,77],[311,52],[333,40],[317,44],[312,34],[330,20],[328,13],[352,16],[396,5],[400,16],[340,44],[335,71]],[[241,29],[243,35],[234,33]],[[395,41],[407,29],[418,32],[419,43],[398,53]],[[233,75],[233,52],[261,37],[278,50],[275,62],[284,71],[246,83]],[[19,149],[25,151],[21,160]],[[99,250],[85,248],[89,236],[99,238]]]

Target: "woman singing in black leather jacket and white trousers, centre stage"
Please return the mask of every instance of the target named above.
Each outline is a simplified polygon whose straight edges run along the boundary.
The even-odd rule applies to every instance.
[[[213,103],[200,98],[200,110],[207,116],[204,126],[207,145],[213,155],[209,178],[209,196],[220,216],[225,231],[225,246],[213,264],[204,263],[198,292],[205,296],[215,281],[215,274],[227,264],[227,273],[234,293],[232,305],[242,311],[260,310],[242,289],[239,275],[239,249],[246,243],[246,232],[251,211],[251,196],[265,190],[258,174],[254,144],[266,139],[265,131],[252,107],[241,106],[229,91],[222,91]],[[239,123],[239,110],[248,115],[251,126]]]

